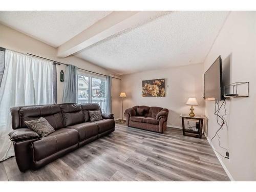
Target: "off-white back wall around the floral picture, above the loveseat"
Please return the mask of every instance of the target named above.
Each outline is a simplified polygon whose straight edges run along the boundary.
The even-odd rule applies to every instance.
[[[157,65],[157,63],[156,63]],[[203,65],[188,65],[145,71],[121,76],[121,92],[126,93],[123,109],[134,105],[160,106],[169,110],[168,126],[181,127],[180,114],[188,114],[189,97],[196,97],[199,105],[195,114],[204,114]],[[142,80],[165,78],[165,97],[142,97]]]

